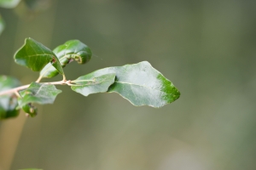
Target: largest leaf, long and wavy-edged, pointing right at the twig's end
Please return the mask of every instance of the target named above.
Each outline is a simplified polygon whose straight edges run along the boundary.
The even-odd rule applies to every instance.
[[[161,107],[180,96],[172,82],[156,71],[148,61],[101,69],[90,73],[90,77],[100,77],[108,73],[116,75],[115,82],[108,88],[108,92],[120,94],[132,105]]]

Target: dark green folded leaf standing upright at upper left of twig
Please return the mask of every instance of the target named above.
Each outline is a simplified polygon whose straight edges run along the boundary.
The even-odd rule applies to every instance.
[[[25,44],[16,52],[15,62],[32,69],[32,71],[41,71],[50,62],[61,75],[64,75],[61,63],[55,54],[42,43],[30,37],[26,38]]]

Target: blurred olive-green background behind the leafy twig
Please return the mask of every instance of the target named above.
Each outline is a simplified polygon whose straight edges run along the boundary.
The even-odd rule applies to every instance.
[[[13,59],[26,37],[51,49],[79,39],[94,55],[68,65],[67,79],[148,60],[181,92],[154,109],[58,87],[55,104],[26,120],[10,169],[256,169],[255,7],[253,0],[41,0],[0,8],[1,75],[37,79]]]

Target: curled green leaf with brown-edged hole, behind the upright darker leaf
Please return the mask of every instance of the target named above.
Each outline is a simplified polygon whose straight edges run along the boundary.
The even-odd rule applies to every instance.
[[[60,60],[62,67],[65,67],[73,60],[78,61],[79,64],[85,64],[90,61],[91,58],[90,48],[79,40],[67,41],[55,48],[53,52]],[[56,75],[58,75],[58,71],[50,64],[46,65],[40,72],[41,77],[50,78]]]

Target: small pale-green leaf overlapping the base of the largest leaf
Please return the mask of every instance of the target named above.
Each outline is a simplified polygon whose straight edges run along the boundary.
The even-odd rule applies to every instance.
[[[104,93],[113,84],[115,74],[105,74],[100,77],[94,77],[93,74],[88,74],[72,81],[74,84],[71,88],[73,91],[88,96],[89,94]]]

